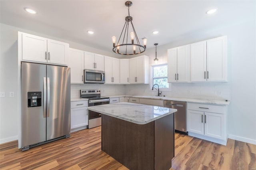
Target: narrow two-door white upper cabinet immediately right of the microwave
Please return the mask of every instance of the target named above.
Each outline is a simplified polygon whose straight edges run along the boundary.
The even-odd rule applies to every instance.
[[[105,56],[105,84],[119,84],[119,59]]]

